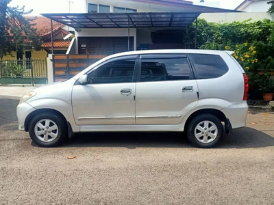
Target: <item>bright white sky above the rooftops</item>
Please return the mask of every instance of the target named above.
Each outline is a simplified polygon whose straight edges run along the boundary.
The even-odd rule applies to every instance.
[[[71,0],[71,11],[73,12],[80,0]],[[199,0],[192,0],[199,1]],[[221,8],[234,10],[243,0],[205,0],[208,2],[220,1]],[[67,13],[69,12],[69,0],[12,0],[10,5],[22,7],[26,10],[33,9],[32,15],[42,13]]]

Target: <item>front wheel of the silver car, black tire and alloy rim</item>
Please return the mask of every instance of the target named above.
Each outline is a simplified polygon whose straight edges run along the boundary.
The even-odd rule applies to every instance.
[[[38,113],[29,122],[29,136],[40,147],[59,146],[67,136],[67,125],[56,113]]]

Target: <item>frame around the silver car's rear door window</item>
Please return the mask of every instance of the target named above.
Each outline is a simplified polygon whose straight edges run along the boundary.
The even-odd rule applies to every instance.
[[[195,80],[195,72],[193,71],[193,66],[189,60],[188,54],[185,53],[149,53],[149,54],[140,54],[138,57],[137,64],[137,83],[155,83],[155,82],[167,82],[167,81],[140,81],[141,78],[141,70],[142,70],[142,59],[177,59],[177,58],[186,58],[188,61],[188,66],[190,68],[190,79],[189,80],[177,80],[177,81],[191,81]],[[170,82],[171,80],[169,80]]]

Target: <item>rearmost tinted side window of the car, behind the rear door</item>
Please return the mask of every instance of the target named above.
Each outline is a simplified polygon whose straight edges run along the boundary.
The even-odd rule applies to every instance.
[[[227,64],[219,55],[191,54],[199,79],[216,79],[228,71]]]

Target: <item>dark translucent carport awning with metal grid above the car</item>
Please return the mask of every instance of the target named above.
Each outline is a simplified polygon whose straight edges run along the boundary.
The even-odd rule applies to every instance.
[[[75,29],[187,27],[200,12],[145,12],[96,14],[42,14]]]

